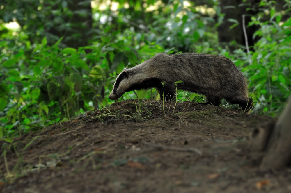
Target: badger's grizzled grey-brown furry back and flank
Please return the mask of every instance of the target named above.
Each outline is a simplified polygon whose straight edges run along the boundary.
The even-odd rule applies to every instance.
[[[140,65],[143,65],[140,67],[143,73],[159,78],[166,85],[182,80],[184,83],[179,83],[178,89],[205,95],[212,93],[222,98],[248,95],[244,74],[223,56],[159,53]]]

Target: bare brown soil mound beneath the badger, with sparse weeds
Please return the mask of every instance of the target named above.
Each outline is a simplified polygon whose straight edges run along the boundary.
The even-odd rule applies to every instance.
[[[127,100],[1,141],[0,192],[291,192],[291,170],[261,172],[247,146],[274,118],[174,106]]]

